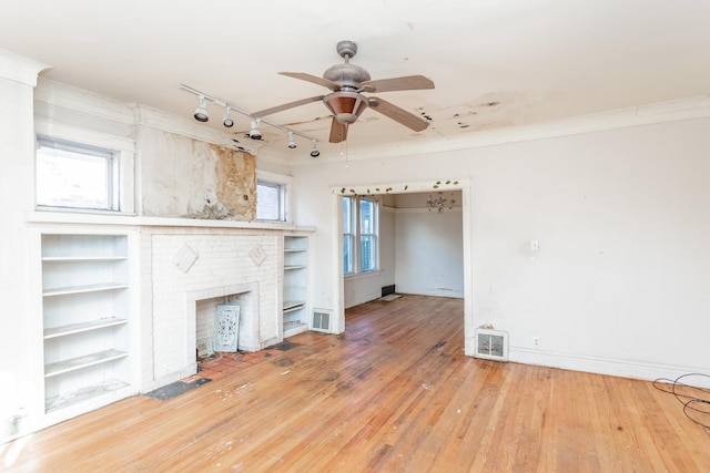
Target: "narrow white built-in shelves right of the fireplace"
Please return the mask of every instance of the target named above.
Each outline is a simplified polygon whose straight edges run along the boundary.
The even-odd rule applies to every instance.
[[[284,338],[308,330],[308,237],[284,236]]]

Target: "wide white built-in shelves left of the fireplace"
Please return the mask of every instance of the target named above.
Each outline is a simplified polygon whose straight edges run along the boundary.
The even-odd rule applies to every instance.
[[[47,413],[130,387],[128,253],[126,235],[41,236]]]

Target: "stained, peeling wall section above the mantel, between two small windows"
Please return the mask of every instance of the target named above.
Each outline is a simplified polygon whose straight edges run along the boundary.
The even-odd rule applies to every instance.
[[[140,214],[152,217],[256,218],[256,158],[163,132],[136,130]]]

